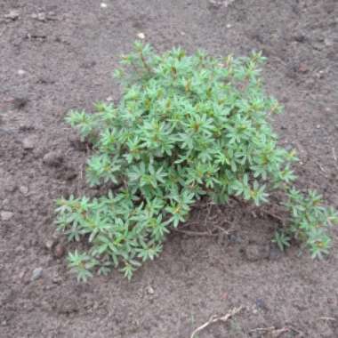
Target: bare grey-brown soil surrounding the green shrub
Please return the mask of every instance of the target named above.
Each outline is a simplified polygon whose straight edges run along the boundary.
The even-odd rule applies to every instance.
[[[276,129],[302,160],[299,184],[338,207],[338,3],[106,3],[0,2],[0,336],[186,338],[212,315],[243,305],[227,324],[198,336],[269,337],[251,330],[275,326],[290,328],[280,337],[337,337],[336,230],[324,262],[299,256],[297,247],[280,254],[270,248],[276,221],[233,203],[222,208],[231,236],[173,234],[131,283],[115,273],[77,284],[64,257],[45,245],[54,232],[54,199],[86,189],[87,154],[64,114],[109,96],[118,100],[111,74],[139,32],[159,51],[178,44],[220,55],[262,50],[267,91],[286,107]],[[20,17],[4,19],[11,10]],[[45,18],[32,17],[39,12]],[[52,150],[62,158],[44,157]],[[212,220],[209,211],[195,211],[202,227]]]

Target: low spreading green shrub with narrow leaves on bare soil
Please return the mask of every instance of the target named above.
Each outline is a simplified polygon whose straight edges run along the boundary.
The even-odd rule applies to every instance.
[[[68,255],[78,278],[114,268],[131,278],[161,251],[166,235],[189,217],[201,197],[226,203],[237,196],[262,205],[285,192],[294,237],[314,257],[327,253],[327,228],[338,220],[315,192],[294,189],[294,150],[278,147],[270,116],[282,109],[262,89],[264,58],[225,59],[180,48],[157,55],[135,44],[116,71],[119,104],[99,102],[96,113],[71,111],[67,122],[93,145],[86,169],[91,186],[115,184],[107,196],[60,198],[57,226],[87,251]]]

